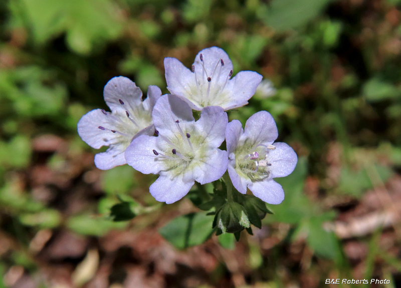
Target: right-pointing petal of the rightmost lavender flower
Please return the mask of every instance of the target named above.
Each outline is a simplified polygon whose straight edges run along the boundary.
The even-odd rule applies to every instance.
[[[276,146],[276,149],[269,151],[267,159],[272,164],[270,171],[273,178],[290,175],[297,165],[297,154],[286,143],[276,142],[274,146]]]

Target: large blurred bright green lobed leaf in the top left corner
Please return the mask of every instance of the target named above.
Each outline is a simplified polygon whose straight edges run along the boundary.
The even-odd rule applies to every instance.
[[[37,44],[65,32],[67,44],[80,54],[89,54],[95,44],[116,39],[122,18],[109,0],[14,0],[25,9],[29,29]]]

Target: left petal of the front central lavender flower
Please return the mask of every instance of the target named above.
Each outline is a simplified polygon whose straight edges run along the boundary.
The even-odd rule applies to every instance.
[[[125,159],[128,165],[144,174],[157,174],[164,169],[163,158],[157,157],[154,150],[162,150],[158,145],[158,138],[141,135],[132,140],[125,150]]]

